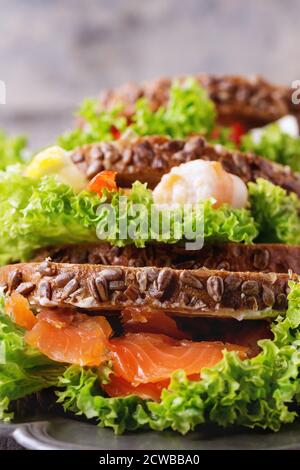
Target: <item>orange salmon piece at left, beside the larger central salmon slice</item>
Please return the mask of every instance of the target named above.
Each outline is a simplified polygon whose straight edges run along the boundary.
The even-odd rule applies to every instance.
[[[112,329],[104,317],[43,310],[25,341],[57,362],[99,366],[107,359]]]

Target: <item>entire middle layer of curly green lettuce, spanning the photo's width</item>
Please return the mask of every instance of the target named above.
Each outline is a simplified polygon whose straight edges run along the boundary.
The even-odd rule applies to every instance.
[[[300,243],[299,199],[263,179],[249,183],[249,209],[214,208],[208,200],[189,212],[164,210],[167,226],[145,184],[134,183],[124,196],[123,191],[106,192],[101,198],[90,191],[76,193],[54,176],[32,179],[24,177],[20,167],[10,167],[0,173],[0,263],[27,261],[36,250],[49,245],[99,239],[138,247],[202,237],[206,243]],[[110,211],[115,223],[111,223]]]

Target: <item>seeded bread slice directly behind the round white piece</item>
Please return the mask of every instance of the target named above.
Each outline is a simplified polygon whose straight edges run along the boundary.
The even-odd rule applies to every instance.
[[[121,139],[115,142],[99,142],[76,149],[71,158],[88,178],[99,171],[112,170],[118,173],[121,187],[130,187],[134,181],[156,186],[163,174],[173,166],[192,160],[220,162],[224,169],[243,181],[265,178],[272,183],[293,191],[300,196],[300,176],[285,167],[251,153],[226,150],[220,145],[211,145],[199,136],[187,140],[171,140],[168,137],[141,137],[134,140]]]

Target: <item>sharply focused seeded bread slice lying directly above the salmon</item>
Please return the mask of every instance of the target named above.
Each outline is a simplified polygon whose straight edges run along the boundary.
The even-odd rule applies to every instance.
[[[4,289],[28,297],[35,307],[73,306],[108,312],[138,307],[176,315],[239,319],[245,312],[247,318],[261,318],[286,309],[290,279],[298,280],[298,276],[49,261],[0,269]]]

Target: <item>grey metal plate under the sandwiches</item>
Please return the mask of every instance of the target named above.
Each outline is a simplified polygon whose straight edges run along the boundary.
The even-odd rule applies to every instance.
[[[0,423],[0,435],[7,432],[20,445],[34,450],[300,449],[300,422],[283,426],[278,433],[202,428],[186,436],[171,431],[116,436],[110,429],[57,418],[11,425]]]

